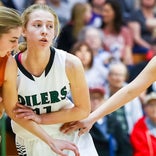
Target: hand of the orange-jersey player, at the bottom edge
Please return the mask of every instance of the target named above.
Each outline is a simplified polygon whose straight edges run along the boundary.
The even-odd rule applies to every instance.
[[[64,150],[70,150],[75,153],[75,156],[80,156],[77,146],[69,141],[53,139],[49,144],[50,148],[60,156],[68,156],[64,154]]]

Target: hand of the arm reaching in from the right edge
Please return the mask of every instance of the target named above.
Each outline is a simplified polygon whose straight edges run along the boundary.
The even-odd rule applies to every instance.
[[[63,133],[71,133],[75,130],[79,130],[79,136],[80,136],[84,133],[89,132],[92,126],[93,123],[88,118],[86,118],[81,121],[65,123],[63,124],[60,130]]]

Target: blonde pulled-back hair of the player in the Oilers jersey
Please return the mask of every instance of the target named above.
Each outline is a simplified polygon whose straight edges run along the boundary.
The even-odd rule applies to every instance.
[[[36,10],[48,11],[54,16],[54,29],[55,29],[55,38],[56,38],[60,32],[60,24],[59,24],[58,16],[54,12],[54,10],[46,4],[33,4],[22,13],[21,18],[22,18],[23,28],[26,28],[27,23],[29,21],[30,14]],[[25,51],[26,49],[27,49],[26,42],[23,42],[19,45],[20,51]]]

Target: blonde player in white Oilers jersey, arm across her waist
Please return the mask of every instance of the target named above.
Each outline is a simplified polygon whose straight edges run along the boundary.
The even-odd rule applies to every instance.
[[[27,46],[22,46],[22,52],[15,57],[19,68],[18,100],[38,114],[35,121],[52,138],[72,141],[78,145],[78,131],[66,135],[60,132],[60,127],[62,123],[83,119],[90,113],[89,92],[81,61],[74,55],[51,47],[58,34],[59,23],[50,7],[32,5],[24,11],[22,20]],[[67,98],[69,91],[74,104]],[[31,116],[31,111],[25,110],[22,105],[15,112],[17,118]],[[57,155],[15,122],[12,122],[12,128],[20,155]],[[88,142],[85,144],[88,148],[93,147],[92,156],[97,156],[90,137]],[[80,155],[85,156],[79,150]],[[67,151],[66,154],[73,156],[73,152]]]

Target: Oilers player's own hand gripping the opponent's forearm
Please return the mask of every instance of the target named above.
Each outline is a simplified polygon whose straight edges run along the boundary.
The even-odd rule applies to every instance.
[[[37,115],[30,107],[23,106],[19,103],[16,104],[16,108],[14,109],[14,113],[16,118],[24,118],[27,120],[33,120],[34,122],[40,124],[41,117]]]

